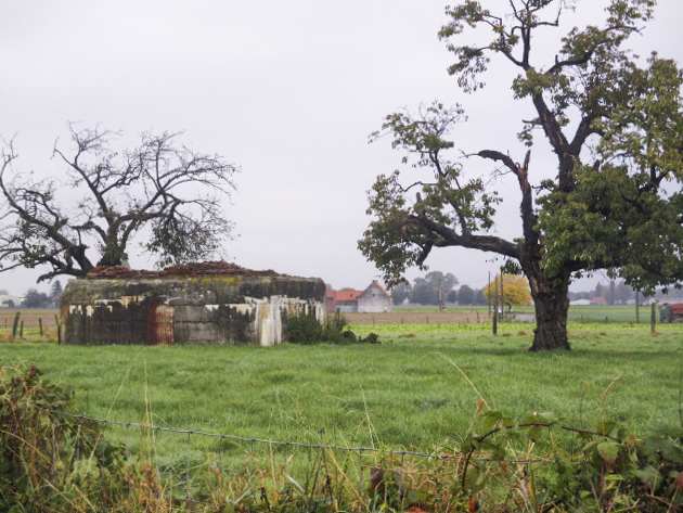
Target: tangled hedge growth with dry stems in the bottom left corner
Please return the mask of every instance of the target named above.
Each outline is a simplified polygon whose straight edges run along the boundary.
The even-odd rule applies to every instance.
[[[0,501],[9,511],[65,511],[90,501],[114,511],[125,490],[124,451],[95,424],[60,414],[72,408],[72,394],[34,365],[0,367]]]

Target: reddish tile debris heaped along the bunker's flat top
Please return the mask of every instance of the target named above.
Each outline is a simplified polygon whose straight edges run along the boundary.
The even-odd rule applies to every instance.
[[[129,269],[127,267],[105,267],[98,266],[88,272],[87,279],[96,280],[102,278],[165,278],[165,277],[204,277],[231,274],[240,277],[280,277],[273,270],[254,271],[240,267],[236,264],[225,261],[204,261],[201,264],[188,264],[185,266],[171,266],[160,271],[150,271],[144,269]]]

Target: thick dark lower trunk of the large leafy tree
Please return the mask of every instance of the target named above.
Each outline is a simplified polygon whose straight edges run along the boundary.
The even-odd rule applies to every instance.
[[[529,282],[536,308],[536,330],[529,350],[571,349],[567,338],[569,277],[555,278],[552,281],[546,277],[537,277]]]

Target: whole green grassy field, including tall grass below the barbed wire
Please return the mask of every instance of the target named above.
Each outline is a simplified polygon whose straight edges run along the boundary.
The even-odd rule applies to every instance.
[[[141,347],[18,341],[0,344],[0,364],[4,370],[35,364],[51,381],[73,386],[76,412],[124,423],[107,425],[105,438],[125,446],[131,461],[153,465],[165,492],[175,497],[197,493],[202,476],[215,475],[214,465],[230,476],[224,492],[235,502],[253,479],[256,489],[268,489],[271,497],[292,483],[312,496],[314,485],[309,484],[320,473],[330,479],[330,469],[335,488],[351,496],[366,489],[376,466],[402,469],[415,489],[417,483],[439,479],[456,486],[453,476],[463,475],[459,460],[404,459],[366,449],[325,449],[323,457],[319,449],[254,438],[458,454],[473,426],[482,428],[487,409],[516,420],[552,412],[560,426],[588,431],[614,419],[639,437],[678,438],[683,433],[682,324],[658,325],[653,334],[647,324],[571,322],[574,350],[530,354],[532,325],[502,323],[492,336],[486,323],[405,320],[352,325],[359,335],[381,335],[382,344],[366,345]],[[511,458],[550,462],[553,454],[583,447],[576,434],[562,428],[533,441],[520,435],[518,444],[506,446]],[[493,495],[503,497],[510,483],[518,483],[521,466],[516,463],[482,465],[489,469]],[[539,472],[550,466],[539,463]],[[439,497],[436,489],[429,488]]]

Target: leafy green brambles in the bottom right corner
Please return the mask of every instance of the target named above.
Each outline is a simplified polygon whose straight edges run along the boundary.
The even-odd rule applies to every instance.
[[[554,432],[575,434],[571,445],[555,446],[544,456],[550,464],[531,457],[531,448]],[[552,444],[552,443],[551,443]],[[571,448],[574,447],[574,448]],[[525,511],[679,511],[683,508],[683,445],[680,439],[639,439],[611,419],[594,429],[562,423],[552,413],[533,413],[519,421],[486,409],[461,444],[466,456],[460,478],[463,490],[491,497],[495,485],[524,490]],[[527,454],[527,472],[486,467],[479,459],[510,459]],[[507,498],[506,500],[511,500]],[[518,505],[518,506],[519,506]],[[663,508],[663,509],[662,509]],[[668,509],[667,509],[668,508]]]

